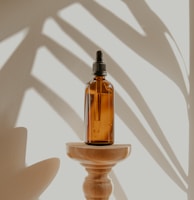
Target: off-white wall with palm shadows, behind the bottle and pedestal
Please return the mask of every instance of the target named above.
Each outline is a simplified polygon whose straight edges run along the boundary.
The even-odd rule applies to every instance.
[[[111,200],[188,200],[188,0],[8,0],[0,19],[1,137],[26,127],[26,167],[60,159],[39,200],[84,199],[86,172],[65,144],[83,139],[98,49],[116,90],[115,142],[132,145],[111,173]]]

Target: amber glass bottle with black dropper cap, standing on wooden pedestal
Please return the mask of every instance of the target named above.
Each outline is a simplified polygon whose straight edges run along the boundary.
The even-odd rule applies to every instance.
[[[111,145],[114,143],[114,88],[105,79],[106,64],[101,51],[96,52],[93,75],[85,89],[85,143]]]

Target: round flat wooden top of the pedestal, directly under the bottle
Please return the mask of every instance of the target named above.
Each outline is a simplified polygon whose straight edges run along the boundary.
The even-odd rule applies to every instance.
[[[131,152],[130,144],[94,146],[85,143],[67,143],[67,154],[84,164],[116,164]]]

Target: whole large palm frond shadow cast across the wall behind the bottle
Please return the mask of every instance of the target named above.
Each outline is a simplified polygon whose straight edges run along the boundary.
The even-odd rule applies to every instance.
[[[18,2],[21,3],[22,0]],[[59,9],[69,6],[74,2],[78,1],[57,1],[54,4],[52,1],[41,1],[41,3],[35,1],[29,4],[29,6],[25,7],[25,12],[18,12],[16,9],[16,11],[13,12],[14,14],[12,15],[11,19],[8,18],[2,23],[1,27],[3,28],[4,32],[1,33],[0,40],[6,39],[24,27],[29,27],[29,33],[26,39],[21,43],[20,47],[15,51],[13,56],[10,57],[9,61],[0,71],[0,88],[2,94],[0,112],[1,114],[3,113],[0,117],[1,132],[3,132],[4,129],[14,127],[19,114],[23,95],[28,88],[33,87],[37,92],[39,92],[39,94],[42,95],[45,101],[49,102],[50,106],[73,128],[77,136],[81,138],[79,127],[82,126],[82,120],[73,110],[73,108],[71,108],[64,99],[61,99],[59,96],[57,96],[54,91],[50,90],[46,85],[31,76],[31,70],[36,51],[40,46],[46,46],[48,50],[52,52],[52,54],[58,60],[64,63],[64,65],[67,66],[68,69],[74,73],[78,79],[84,83],[88,81],[88,77],[85,74],[90,74],[89,66],[86,66],[82,60],[73,55],[70,51],[68,51],[68,49],[61,47],[55,41],[41,34],[43,22],[49,16],[52,16],[59,26],[63,28],[64,32],[72,37],[74,41],[76,41],[91,57],[93,57],[91,52],[96,51],[96,49],[99,49],[100,47],[95,45],[73,26],[60,19],[56,15]],[[173,80],[181,89],[187,101],[188,97],[186,86],[184,84],[178,62],[174,57],[166,38],[164,37],[164,32],[169,33],[167,27],[165,27],[158,16],[149,9],[145,1],[133,2],[133,4],[131,4],[130,1],[124,2],[139,21],[140,25],[144,28],[147,37],[142,37],[139,35],[132,27],[125,24],[114,14],[110,13],[96,2],[80,1],[80,3],[116,37],[127,44],[129,48],[133,49],[141,57],[152,63],[153,66],[155,66],[162,73],[166,74],[171,80]],[[13,5],[13,2],[7,2],[7,8],[13,9]],[[48,5],[48,10],[45,10],[45,5]],[[39,7],[39,10],[38,14],[36,13],[35,16],[32,8],[37,6]],[[139,10],[139,8],[141,9]],[[7,14],[4,13],[4,15],[6,16]],[[5,16],[3,18],[1,17],[1,19],[5,19]],[[114,24],[112,24],[113,21]],[[6,27],[7,23],[9,24],[9,27]],[[154,24],[155,28],[153,29],[153,27],[149,27],[149,24]],[[149,28],[145,29],[145,27]],[[158,46],[160,46],[160,50],[156,51]],[[160,129],[160,126],[150,111],[149,106],[144,101],[134,83],[129,79],[128,76],[124,74],[122,69],[119,67],[119,64],[115,63],[115,61],[111,59],[108,52],[105,53],[107,62],[112,66],[113,69],[110,72],[111,75],[122,85],[126,92],[132,97],[134,102],[137,103],[138,108],[141,110],[153,132],[156,134],[156,137],[160,141],[170,160],[173,162],[181,177],[187,182],[187,176],[182,169],[181,164],[177,160],[171,146],[165,139],[164,133]],[[23,59],[24,57],[25,59]],[[84,69],[84,73],[81,74],[80,71],[78,72],[76,65],[73,65],[72,63],[79,63],[79,67]],[[9,99],[8,102],[7,99]],[[133,131],[137,139],[142,143],[142,145],[150,153],[153,159],[160,165],[160,167],[168,174],[168,176],[177,185],[179,185],[182,190],[186,191],[183,182],[173,170],[172,166],[169,164],[161,150],[149,136],[141,122],[136,117],[135,113],[133,113],[133,111],[123,101],[118,93],[116,93],[116,102],[119,104],[119,109],[116,107],[116,114],[122,119],[126,126]],[[76,121],[76,127],[72,124],[71,119]],[[112,177],[113,182],[115,181],[118,183],[114,174]],[[191,182],[192,181],[190,180],[190,184]],[[124,191],[121,190],[120,192],[122,192],[123,197],[127,199]],[[116,199],[119,199],[121,194],[119,194],[118,191],[115,191],[114,195]]]

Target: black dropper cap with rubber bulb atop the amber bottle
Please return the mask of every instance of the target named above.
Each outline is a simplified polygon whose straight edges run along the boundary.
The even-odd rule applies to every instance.
[[[103,62],[102,51],[96,52],[96,61],[93,63],[93,74],[96,76],[106,76],[106,64]]]

